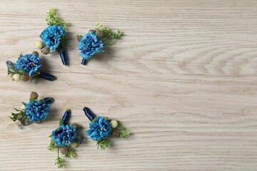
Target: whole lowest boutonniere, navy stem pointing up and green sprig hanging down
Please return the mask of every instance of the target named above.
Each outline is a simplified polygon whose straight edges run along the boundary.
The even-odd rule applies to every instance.
[[[57,159],[55,165],[58,168],[64,167],[64,159],[60,157],[61,153],[64,157],[76,157],[74,147],[81,144],[84,136],[78,133],[80,125],[74,123],[69,125],[69,118],[71,117],[71,110],[67,109],[63,118],[59,120],[59,128],[54,130],[51,137],[51,142],[48,150],[57,150]]]

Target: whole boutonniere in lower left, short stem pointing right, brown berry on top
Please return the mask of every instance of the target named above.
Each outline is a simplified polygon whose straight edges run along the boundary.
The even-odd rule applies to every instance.
[[[14,122],[19,120],[19,125],[27,126],[31,123],[40,123],[41,120],[46,120],[49,115],[50,103],[54,98],[44,98],[38,100],[39,94],[31,92],[29,103],[22,103],[21,109],[14,108],[17,113],[11,113],[11,120]]]

